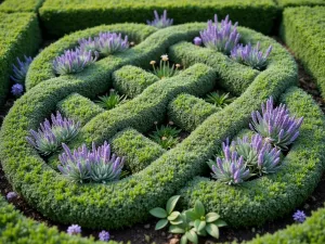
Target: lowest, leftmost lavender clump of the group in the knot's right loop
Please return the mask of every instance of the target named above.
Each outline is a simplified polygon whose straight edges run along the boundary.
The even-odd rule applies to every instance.
[[[212,165],[211,176],[229,184],[238,184],[251,177],[244,157],[237,152],[231,152],[229,145],[223,147],[224,158],[217,157],[217,164]]]

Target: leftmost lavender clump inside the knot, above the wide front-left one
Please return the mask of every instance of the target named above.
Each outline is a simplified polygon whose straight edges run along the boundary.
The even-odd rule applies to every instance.
[[[52,125],[48,119],[40,124],[38,131],[29,130],[30,137],[26,138],[29,144],[43,155],[56,152],[63,142],[74,139],[80,130],[79,121],[64,118],[60,112],[56,116],[52,114],[51,120]]]

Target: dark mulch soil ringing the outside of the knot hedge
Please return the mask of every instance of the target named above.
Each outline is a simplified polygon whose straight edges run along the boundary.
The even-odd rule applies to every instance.
[[[278,38],[276,38],[278,40]],[[280,40],[278,40],[280,41]],[[280,41],[281,42],[281,41]],[[310,93],[314,100],[318,103],[323,112],[325,111],[325,101],[321,98],[320,91],[311,76],[309,76],[303,69],[302,65],[298,62],[299,65],[299,86]],[[0,123],[2,124],[3,117],[6,115],[9,108],[13,105],[13,99],[9,98],[6,104],[0,111]],[[0,191],[2,195],[5,195],[9,191],[12,191],[11,184],[8,182],[2,168],[0,167]],[[31,208],[23,197],[18,196],[12,202],[14,206],[23,211],[23,214],[29,218],[47,223],[48,226],[56,226],[60,230],[66,231],[67,226],[55,223],[49,219],[42,217],[40,213]],[[304,213],[310,216],[312,210],[316,210],[320,207],[323,207],[325,203],[325,175],[323,175],[317,188],[313,194],[306,201],[302,206],[299,206],[298,209],[304,210]],[[232,241],[247,241],[253,239],[257,234],[273,233],[277,230],[284,229],[286,226],[294,223],[292,214],[290,213],[284,216],[281,219],[275,221],[270,221],[261,227],[255,228],[242,228],[242,229],[231,229],[222,228],[221,237],[219,242],[232,242]],[[152,243],[156,242],[157,244],[173,243],[177,235],[171,235],[164,231],[155,231],[156,219],[151,219],[144,223],[134,224],[131,228],[125,228],[123,230],[112,230],[110,235],[116,241],[131,241],[132,243]],[[82,235],[98,236],[99,231],[92,230],[82,230]],[[212,239],[202,239],[200,243],[213,243]]]

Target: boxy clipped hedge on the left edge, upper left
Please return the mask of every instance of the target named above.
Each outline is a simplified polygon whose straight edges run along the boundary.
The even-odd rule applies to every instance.
[[[0,105],[4,103],[12,64],[24,54],[34,55],[41,42],[37,16],[31,13],[0,12]]]

